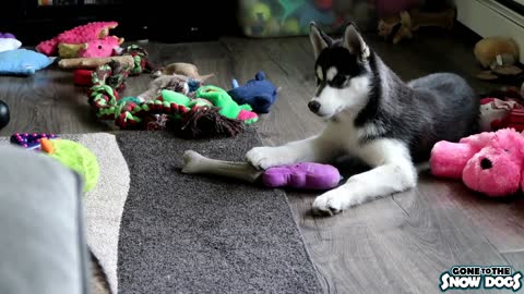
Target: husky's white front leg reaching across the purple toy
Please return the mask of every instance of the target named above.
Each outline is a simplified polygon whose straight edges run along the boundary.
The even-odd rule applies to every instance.
[[[324,133],[307,139],[291,142],[278,147],[254,147],[246,155],[247,160],[258,169],[298,162],[324,163],[338,155],[337,146]]]

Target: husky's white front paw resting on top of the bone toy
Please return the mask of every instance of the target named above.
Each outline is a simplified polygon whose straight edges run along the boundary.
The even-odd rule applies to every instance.
[[[246,155],[255,168],[266,170],[272,167],[294,163],[293,152],[287,147],[254,147]]]

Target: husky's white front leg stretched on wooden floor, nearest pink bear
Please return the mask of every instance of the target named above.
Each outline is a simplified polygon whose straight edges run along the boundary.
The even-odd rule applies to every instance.
[[[374,168],[349,177],[342,186],[317,197],[312,207],[314,213],[337,213],[416,185],[417,171],[405,144],[380,139],[364,146],[359,154],[362,160]]]

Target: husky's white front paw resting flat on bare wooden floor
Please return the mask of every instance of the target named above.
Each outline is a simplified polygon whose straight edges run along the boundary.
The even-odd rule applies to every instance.
[[[350,196],[342,188],[329,191],[313,201],[313,213],[318,216],[333,216],[347,209]]]

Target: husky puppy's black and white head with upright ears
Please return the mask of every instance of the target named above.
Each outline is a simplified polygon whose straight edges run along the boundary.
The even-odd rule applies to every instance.
[[[355,25],[347,25],[343,38],[334,40],[311,23],[310,40],[317,59],[317,91],[308,103],[311,112],[330,119],[364,108],[371,87],[370,51]]]

